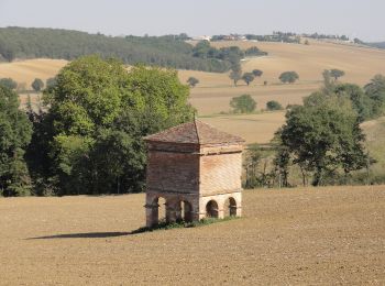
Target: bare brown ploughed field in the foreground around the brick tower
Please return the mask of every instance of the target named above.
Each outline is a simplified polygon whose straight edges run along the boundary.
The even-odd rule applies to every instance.
[[[0,199],[0,284],[385,284],[385,186],[244,191],[242,219],[130,234],[143,205]]]

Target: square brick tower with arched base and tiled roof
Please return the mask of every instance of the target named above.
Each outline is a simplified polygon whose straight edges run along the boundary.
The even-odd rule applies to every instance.
[[[241,216],[242,139],[194,121],[145,141],[147,227],[158,223],[160,197],[168,222],[223,218],[226,208]]]

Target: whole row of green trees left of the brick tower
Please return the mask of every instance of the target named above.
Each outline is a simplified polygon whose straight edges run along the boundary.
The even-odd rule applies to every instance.
[[[4,196],[120,194],[144,187],[142,138],[194,117],[175,70],[76,59],[44,90],[44,110],[19,110],[0,87]]]

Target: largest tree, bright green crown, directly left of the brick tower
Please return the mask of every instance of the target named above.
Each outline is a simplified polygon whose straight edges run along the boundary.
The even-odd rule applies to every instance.
[[[142,138],[194,116],[188,87],[175,70],[135,66],[128,73],[118,61],[87,56],[56,78],[55,88],[44,91],[51,108],[42,125],[48,139],[41,134],[35,146],[48,147],[46,180],[59,195],[143,190]]]

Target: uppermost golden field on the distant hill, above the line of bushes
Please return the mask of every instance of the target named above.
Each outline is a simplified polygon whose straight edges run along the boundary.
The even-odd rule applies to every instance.
[[[310,41],[310,45],[268,42],[213,42],[213,46],[239,45],[241,48],[257,46],[268,53],[264,57],[245,61],[243,72],[258,68],[263,79],[278,81],[279,74],[296,70],[299,81],[321,80],[324,69],[345,72],[343,81],[366,84],[375,74],[385,74],[385,51],[352,44]]]

